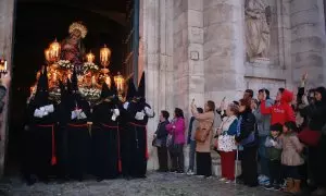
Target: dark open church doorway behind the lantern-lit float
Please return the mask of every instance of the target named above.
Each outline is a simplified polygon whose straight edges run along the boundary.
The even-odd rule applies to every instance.
[[[1,130],[0,172],[3,173],[5,169],[11,173],[16,172],[18,146],[24,139],[21,133],[28,86],[35,79],[35,71],[43,63],[45,47],[55,37],[63,39],[67,35],[70,23],[84,21],[89,29],[85,39],[88,49],[96,53],[103,44],[111,47],[111,72],[123,71],[127,75],[137,70],[135,73],[138,73],[139,0],[110,3],[101,0],[17,0],[16,3],[14,0],[5,0],[3,3],[7,7],[1,7],[1,13],[10,19],[2,25],[7,30],[2,35],[3,50],[12,65],[10,69],[13,81],[9,119],[3,119]],[[135,74],[135,81],[138,81],[137,75]]]

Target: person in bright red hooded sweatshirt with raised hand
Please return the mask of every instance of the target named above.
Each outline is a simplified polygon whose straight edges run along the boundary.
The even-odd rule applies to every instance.
[[[291,101],[293,94],[287,89],[281,89],[277,93],[276,103],[272,107],[266,107],[266,94],[261,105],[262,114],[271,114],[271,124],[284,124],[285,122],[296,122]]]

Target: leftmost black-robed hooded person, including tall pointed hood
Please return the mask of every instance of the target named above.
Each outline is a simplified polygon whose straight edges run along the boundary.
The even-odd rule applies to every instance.
[[[23,155],[24,175],[29,184],[36,174],[40,181],[48,182],[52,167],[57,164],[55,128],[57,107],[49,100],[47,68],[41,73],[35,97],[27,106],[26,146]]]

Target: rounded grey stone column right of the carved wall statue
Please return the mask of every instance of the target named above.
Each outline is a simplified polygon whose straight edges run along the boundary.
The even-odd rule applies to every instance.
[[[291,56],[293,82],[309,72],[309,86],[325,85],[325,17],[321,0],[292,0]]]

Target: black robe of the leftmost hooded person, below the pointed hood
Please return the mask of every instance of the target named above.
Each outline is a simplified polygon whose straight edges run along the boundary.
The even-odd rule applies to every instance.
[[[40,106],[53,105],[54,112],[43,118],[34,117]],[[53,102],[36,103],[34,100],[27,106],[27,126],[25,131],[25,147],[23,170],[27,175],[36,174],[39,180],[48,181],[57,164],[57,107]],[[28,179],[27,179],[28,180]]]

